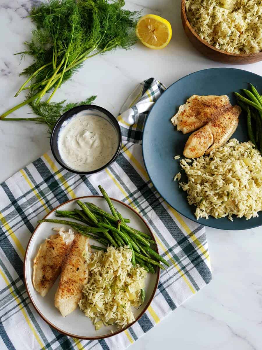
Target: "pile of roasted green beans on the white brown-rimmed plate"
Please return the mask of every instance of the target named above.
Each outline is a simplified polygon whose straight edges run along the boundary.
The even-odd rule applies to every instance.
[[[96,250],[106,251],[106,247],[109,245],[115,248],[128,245],[132,250],[132,264],[144,267],[147,272],[155,273],[156,267],[165,269],[161,262],[169,267],[168,262],[150,247],[156,244],[152,237],[145,232],[128,226],[127,223],[130,223],[130,219],[123,218],[114,208],[108,194],[101,185],[99,185],[99,189],[107,201],[112,215],[93,203],[83,203],[78,200],[77,204],[81,209],[56,210],[56,217],[74,219],[82,222],[82,224],[62,219],[44,219],[38,222],[69,225],[73,230],[99,242],[102,247],[91,246]]]

